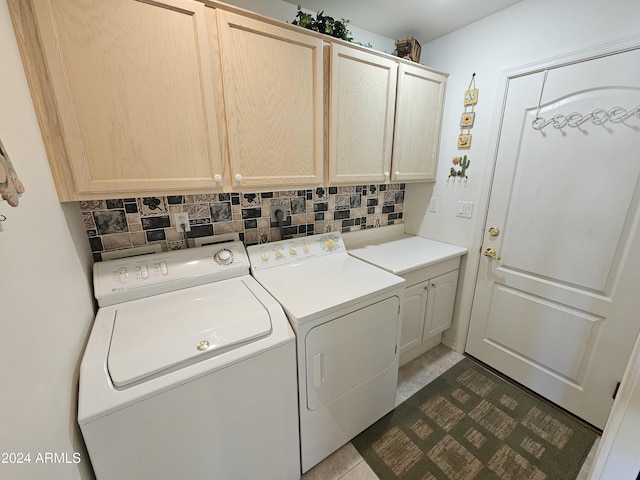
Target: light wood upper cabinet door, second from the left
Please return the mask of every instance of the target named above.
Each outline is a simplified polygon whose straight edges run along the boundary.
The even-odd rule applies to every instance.
[[[322,40],[218,10],[234,185],[323,180]]]

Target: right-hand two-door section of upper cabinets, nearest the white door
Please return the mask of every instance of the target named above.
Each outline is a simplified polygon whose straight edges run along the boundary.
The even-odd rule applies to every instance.
[[[332,44],[330,184],[435,179],[446,75]]]

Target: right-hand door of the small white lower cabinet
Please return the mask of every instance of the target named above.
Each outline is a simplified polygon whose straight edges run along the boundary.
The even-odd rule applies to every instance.
[[[422,339],[427,340],[451,326],[458,287],[458,270],[435,277],[428,282],[429,299]]]

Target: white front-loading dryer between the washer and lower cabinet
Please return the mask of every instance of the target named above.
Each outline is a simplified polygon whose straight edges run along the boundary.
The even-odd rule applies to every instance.
[[[348,255],[339,233],[247,251],[296,333],[306,472],[394,408],[404,280]]]

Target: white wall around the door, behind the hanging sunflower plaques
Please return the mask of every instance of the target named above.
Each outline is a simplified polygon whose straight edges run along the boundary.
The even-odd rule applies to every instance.
[[[450,76],[437,182],[408,186],[405,222],[410,233],[469,249],[454,326],[444,335],[447,345],[464,349],[495,154],[502,72],[637,34],[639,17],[637,0],[524,0],[423,45],[421,62]],[[463,94],[474,72],[480,92],[473,141],[470,150],[458,150]],[[451,186],[446,182],[451,160],[461,154],[471,159],[469,180],[464,187]],[[427,211],[432,195],[439,199],[437,213]],[[456,217],[459,200],[475,203],[472,219]]]

